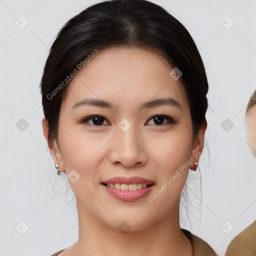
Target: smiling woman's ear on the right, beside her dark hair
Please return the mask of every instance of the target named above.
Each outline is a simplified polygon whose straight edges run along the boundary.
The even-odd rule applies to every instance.
[[[192,151],[190,155],[190,159],[193,161],[190,164],[190,169],[192,170],[196,170],[197,168],[197,164],[203,149],[204,134],[205,134],[206,128],[207,128],[207,122],[206,120],[204,120],[200,126],[200,129],[198,130],[196,137],[193,140],[193,146],[192,146]]]

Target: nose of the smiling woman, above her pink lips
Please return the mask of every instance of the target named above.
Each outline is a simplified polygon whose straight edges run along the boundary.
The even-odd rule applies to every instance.
[[[124,167],[146,164],[146,145],[135,125],[131,125],[126,131],[117,128],[117,134],[112,139],[109,160],[113,165],[119,164]]]

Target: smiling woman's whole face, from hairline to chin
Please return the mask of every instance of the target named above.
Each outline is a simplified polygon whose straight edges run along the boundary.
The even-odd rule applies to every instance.
[[[178,216],[187,166],[195,166],[194,155],[198,162],[206,126],[193,140],[185,90],[171,70],[149,50],[112,47],[99,50],[68,85],[52,156],[84,216],[114,229],[126,221],[131,230]],[[117,176],[112,183],[135,190],[103,184]],[[134,176],[147,181],[125,179]],[[139,183],[153,184],[140,190]]]

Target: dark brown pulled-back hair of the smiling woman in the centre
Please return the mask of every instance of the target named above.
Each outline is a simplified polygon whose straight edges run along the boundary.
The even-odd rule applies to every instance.
[[[63,84],[67,75],[95,49],[121,45],[158,50],[173,68],[181,70],[179,79],[188,98],[193,133],[197,134],[206,121],[208,83],[189,32],[165,9],[150,1],[106,0],[68,20],[50,48],[40,82],[49,147],[58,141],[58,117],[69,84]],[[57,87],[61,89],[56,92]]]

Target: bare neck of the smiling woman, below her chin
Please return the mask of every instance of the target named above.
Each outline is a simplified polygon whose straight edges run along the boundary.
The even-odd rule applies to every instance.
[[[109,226],[87,212],[77,202],[79,239],[72,255],[184,255],[191,256],[192,245],[179,226],[178,204],[160,222],[134,230]],[[117,221],[118,222],[118,221]],[[126,222],[119,221],[123,226]]]

